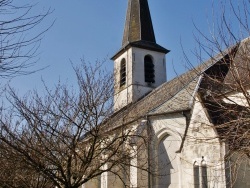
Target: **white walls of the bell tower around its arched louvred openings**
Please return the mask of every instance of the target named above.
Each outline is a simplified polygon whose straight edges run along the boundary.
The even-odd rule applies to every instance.
[[[144,57],[150,55],[155,65],[155,83],[148,84],[144,80]],[[120,88],[120,62],[126,60],[126,85]],[[115,59],[115,96],[114,110],[119,110],[131,102],[152,91],[166,81],[165,54],[140,48],[129,48]]]

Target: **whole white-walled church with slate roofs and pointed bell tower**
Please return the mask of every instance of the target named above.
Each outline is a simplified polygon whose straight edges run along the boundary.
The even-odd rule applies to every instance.
[[[249,150],[240,153],[239,149],[249,148],[249,137],[248,144],[243,138],[236,147],[234,139],[225,136],[232,133],[226,122],[236,122],[238,117],[229,109],[244,111],[248,107],[244,102],[246,95],[229,86],[235,86],[231,71],[235,64],[242,65],[238,73],[249,79],[243,69],[249,62],[242,60],[249,48],[249,39],[245,39],[166,81],[166,55],[170,51],[156,43],[148,2],[128,1],[122,46],[112,57],[113,119],[117,124],[123,121],[131,127],[150,127],[147,164],[159,173],[153,176],[131,167],[131,188],[250,187],[250,162],[246,156]],[[249,125],[245,130],[249,131]],[[234,154],[227,158],[229,151]],[[140,157],[133,164],[143,161]],[[239,158],[246,160],[239,162]],[[233,166],[237,166],[237,172]],[[124,187],[108,174],[103,174],[99,181],[98,185],[92,182],[84,187]]]

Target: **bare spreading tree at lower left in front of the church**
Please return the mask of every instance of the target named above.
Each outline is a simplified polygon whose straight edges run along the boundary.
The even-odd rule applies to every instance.
[[[131,143],[143,136],[110,118],[113,78],[101,67],[76,67],[76,89],[59,83],[44,97],[24,98],[11,90],[12,107],[1,117],[2,150],[57,187],[78,188],[105,172],[128,185],[124,174],[138,155]]]

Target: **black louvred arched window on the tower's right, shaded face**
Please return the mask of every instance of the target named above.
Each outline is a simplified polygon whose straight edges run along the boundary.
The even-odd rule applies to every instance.
[[[155,67],[151,56],[146,55],[144,57],[144,75],[145,82],[155,83]]]

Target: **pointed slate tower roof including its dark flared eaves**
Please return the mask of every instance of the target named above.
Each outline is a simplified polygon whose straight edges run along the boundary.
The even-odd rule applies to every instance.
[[[129,0],[122,48],[111,59],[115,59],[130,47],[169,52],[156,43],[147,0]]]

